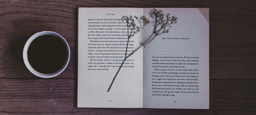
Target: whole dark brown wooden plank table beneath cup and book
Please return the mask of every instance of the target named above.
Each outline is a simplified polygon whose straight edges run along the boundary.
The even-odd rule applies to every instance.
[[[77,108],[77,8],[210,8],[210,109]],[[70,63],[52,79],[34,76],[22,51],[34,33],[54,31]],[[0,114],[256,114],[256,2],[227,0],[1,0]]]

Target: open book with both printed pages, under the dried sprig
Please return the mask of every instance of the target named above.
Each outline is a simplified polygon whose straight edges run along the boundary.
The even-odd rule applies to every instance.
[[[77,107],[209,109],[209,9],[155,8],[177,22],[139,48],[154,32],[152,9],[78,9]],[[128,47],[126,15],[150,20]],[[126,48],[139,49],[112,83]]]

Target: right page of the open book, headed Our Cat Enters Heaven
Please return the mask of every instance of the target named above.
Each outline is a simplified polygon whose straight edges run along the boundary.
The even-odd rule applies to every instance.
[[[151,23],[152,9],[144,8]],[[177,23],[144,45],[143,107],[209,109],[209,8],[155,9]],[[154,32],[151,23],[144,27],[144,41]]]

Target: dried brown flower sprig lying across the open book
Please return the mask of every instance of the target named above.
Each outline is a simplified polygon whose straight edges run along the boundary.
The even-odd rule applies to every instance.
[[[126,26],[127,26],[127,36],[128,36],[128,41],[127,41],[127,45],[126,45],[126,50],[125,50],[125,58],[121,64],[121,66],[119,67],[117,73],[115,74],[115,77],[113,78],[108,92],[113,84],[113,82],[115,81],[116,76],[118,75],[122,65],[124,64],[125,60],[131,56],[132,54],[134,54],[135,51],[137,51],[139,48],[141,48],[142,46],[144,47],[144,45],[148,44],[149,42],[151,42],[156,36],[162,34],[162,33],[168,33],[169,29],[171,26],[169,26],[170,24],[173,23],[177,23],[177,19],[178,17],[175,16],[171,16],[170,17],[170,13],[166,14],[166,19],[164,19],[164,13],[162,13],[161,10],[157,10],[157,9],[152,9],[151,12],[149,13],[150,16],[154,19],[153,21],[153,25],[154,25],[154,29],[153,29],[153,33],[151,34],[151,36],[149,36],[147,39],[145,39],[145,41],[143,40],[143,29],[145,27],[146,24],[150,23],[150,20],[148,20],[145,16],[142,16],[140,18],[135,17],[135,19],[138,20],[138,22],[140,23],[140,27],[136,26],[134,19],[132,18],[132,16],[130,15],[128,16],[122,16],[122,22],[126,22]],[[130,29],[129,29],[130,28]],[[138,33],[141,29],[141,43],[140,46],[138,48],[136,48],[133,52],[131,52],[131,54],[127,54],[127,48],[128,48],[128,44],[129,44],[129,39],[135,34]],[[129,32],[130,30],[130,32]],[[161,33],[160,33],[161,32]]]

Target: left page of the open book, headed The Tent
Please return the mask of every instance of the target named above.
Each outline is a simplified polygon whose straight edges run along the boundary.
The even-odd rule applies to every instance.
[[[77,107],[142,108],[143,49],[125,57],[127,26],[122,15],[142,16],[143,8],[78,9]],[[140,43],[141,33],[129,39],[128,54]]]

